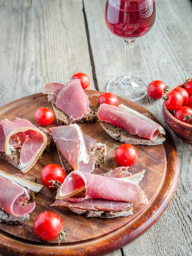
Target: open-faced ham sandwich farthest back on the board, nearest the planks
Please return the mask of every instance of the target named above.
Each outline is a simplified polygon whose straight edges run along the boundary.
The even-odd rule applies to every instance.
[[[75,122],[97,122],[97,108],[90,104],[80,79],[73,79],[67,84],[48,83],[43,93],[49,94],[58,125]]]

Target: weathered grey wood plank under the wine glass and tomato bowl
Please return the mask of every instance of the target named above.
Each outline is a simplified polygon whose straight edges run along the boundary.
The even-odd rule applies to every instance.
[[[106,27],[106,1],[84,0],[90,43],[95,62],[99,90],[105,91],[107,82],[123,75],[123,42]],[[157,19],[151,32],[135,43],[132,71],[147,84],[155,79],[170,87],[192,76],[192,34],[190,14],[192,3],[183,0],[156,1]],[[98,31],[98,32],[96,32]],[[154,113],[161,122],[162,100],[148,96],[137,102]],[[170,129],[169,129],[170,131]],[[136,241],[123,248],[124,255],[190,255],[191,247],[191,184],[192,145],[184,143],[170,131],[181,162],[181,175],[174,198],[160,220]]]

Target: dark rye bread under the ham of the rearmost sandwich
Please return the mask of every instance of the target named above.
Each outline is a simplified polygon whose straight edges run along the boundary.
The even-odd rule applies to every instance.
[[[69,116],[56,107],[55,103],[52,102],[52,108],[55,114],[55,117],[57,119],[58,125],[69,125],[70,119]],[[91,112],[89,114],[85,115],[82,119],[76,120],[73,122],[75,123],[84,123],[84,122],[98,122],[98,116],[97,116],[97,108],[95,108],[93,105],[89,105],[89,108]]]

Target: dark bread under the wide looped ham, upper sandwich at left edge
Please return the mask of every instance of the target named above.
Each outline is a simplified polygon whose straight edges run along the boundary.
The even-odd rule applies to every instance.
[[[46,136],[47,136],[47,145],[46,145],[46,148],[43,151],[43,153],[45,151],[52,151],[52,150],[54,150],[55,144],[54,144],[54,141],[52,139],[52,135],[49,133],[49,131],[47,131],[43,127],[39,127],[39,129],[41,131],[43,131],[44,134],[46,134]],[[43,153],[40,154],[39,159],[41,159]],[[14,166],[17,169],[19,169],[18,166],[19,166],[19,163],[20,163],[20,152],[18,151],[17,148],[16,148],[15,151],[11,152],[11,155],[6,155],[5,152],[0,152],[0,157],[2,157],[4,160],[6,160],[8,163],[10,163],[12,166]]]

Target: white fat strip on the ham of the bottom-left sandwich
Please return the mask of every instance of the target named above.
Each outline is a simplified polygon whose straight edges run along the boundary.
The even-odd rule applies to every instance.
[[[24,188],[29,188],[34,192],[39,192],[40,189],[42,189],[42,185],[34,183],[32,181],[26,180],[22,177],[22,175],[11,175],[8,174],[6,172],[3,172],[2,170],[0,170],[0,176],[2,177],[6,177],[9,180],[12,180],[13,182],[19,184],[20,186],[23,186]]]

